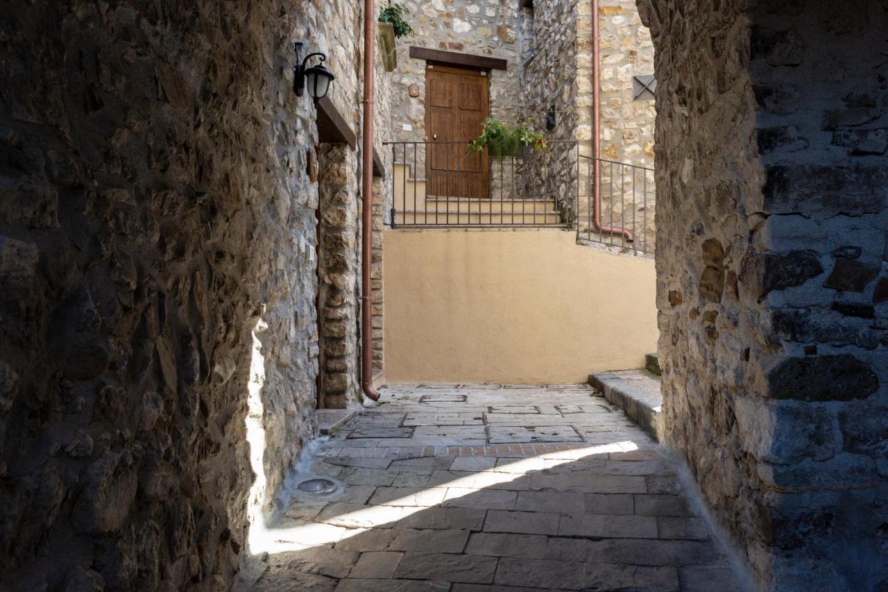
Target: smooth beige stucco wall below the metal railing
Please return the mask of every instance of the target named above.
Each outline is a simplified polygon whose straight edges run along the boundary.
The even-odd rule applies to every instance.
[[[654,260],[563,230],[387,230],[385,380],[580,382],[656,349]]]

